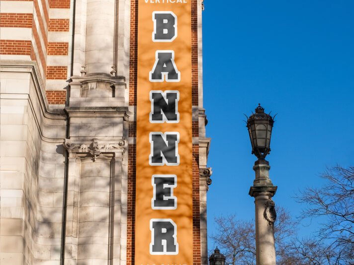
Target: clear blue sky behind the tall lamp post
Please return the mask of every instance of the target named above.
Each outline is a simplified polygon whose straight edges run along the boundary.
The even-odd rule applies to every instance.
[[[204,108],[211,137],[208,234],[214,217],[254,218],[256,157],[245,117],[278,113],[267,156],[273,198],[298,216],[295,194],[326,166],[354,165],[354,1],[204,0]],[[314,225],[301,227],[307,235]],[[209,248],[212,247],[209,240]]]

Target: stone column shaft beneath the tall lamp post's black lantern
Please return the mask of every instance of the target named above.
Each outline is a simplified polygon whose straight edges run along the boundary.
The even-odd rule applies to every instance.
[[[275,265],[273,224],[276,213],[271,198],[277,187],[269,179],[270,166],[267,161],[256,161],[253,169],[256,179],[249,194],[255,198],[256,207],[256,264]]]

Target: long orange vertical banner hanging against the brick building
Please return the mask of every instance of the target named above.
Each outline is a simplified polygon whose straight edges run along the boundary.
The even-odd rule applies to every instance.
[[[173,40],[154,40],[153,13],[176,16],[176,36]],[[164,20],[164,23],[166,21]],[[166,31],[163,31],[166,33]],[[173,51],[179,77],[163,81],[152,80],[158,51]],[[165,66],[165,65],[164,65]],[[192,98],[191,98],[191,4],[189,0],[139,0],[138,4],[138,66],[137,66],[137,134],[136,134],[136,209],[135,264],[136,265],[192,265]],[[164,76],[164,74],[163,74]],[[178,120],[151,122],[152,91],[178,91]],[[152,156],[151,133],[176,133],[178,162],[156,165]],[[153,176],[176,176],[173,196],[176,207],[152,206]],[[165,186],[164,186],[165,187]],[[172,187],[172,186],[171,186]],[[152,220],[172,220],[176,224],[176,253],[156,254],[151,251]],[[163,231],[164,232],[164,231]],[[165,242],[166,244],[166,242]]]

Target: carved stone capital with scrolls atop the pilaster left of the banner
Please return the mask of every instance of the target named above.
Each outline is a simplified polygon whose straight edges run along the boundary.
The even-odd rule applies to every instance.
[[[92,139],[90,142],[73,141],[71,139],[65,139],[63,142],[64,148],[69,151],[69,153],[76,153],[80,157],[85,157],[87,155],[92,156],[93,162],[96,161],[97,157],[103,154],[106,157],[111,157],[112,153],[120,152],[124,153],[127,147],[127,140],[121,139],[115,142],[104,141],[98,139]]]

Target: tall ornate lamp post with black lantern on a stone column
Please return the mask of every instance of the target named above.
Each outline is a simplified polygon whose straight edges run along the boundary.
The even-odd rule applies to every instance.
[[[275,265],[273,225],[276,213],[275,203],[271,198],[277,187],[273,186],[269,179],[270,166],[265,160],[265,156],[270,152],[270,136],[274,120],[264,110],[259,104],[256,113],[247,118],[252,154],[258,158],[253,167],[256,178],[249,195],[255,198],[256,205],[256,264]]]

